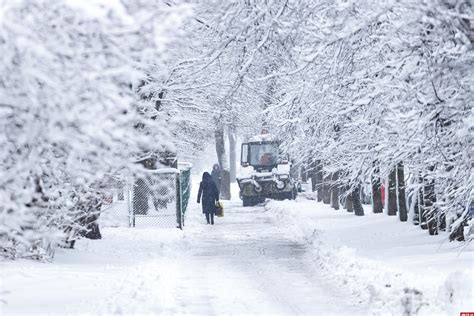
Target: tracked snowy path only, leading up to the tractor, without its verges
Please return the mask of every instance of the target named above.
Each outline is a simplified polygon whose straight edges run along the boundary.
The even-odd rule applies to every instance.
[[[214,227],[192,232],[184,261],[193,280],[178,305],[203,314],[330,315],[357,311],[318,276],[304,244],[294,241],[263,207],[232,205]],[[206,304],[193,303],[194,291]]]

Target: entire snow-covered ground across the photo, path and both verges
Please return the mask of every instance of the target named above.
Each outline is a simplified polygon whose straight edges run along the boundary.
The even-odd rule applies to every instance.
[[[474,310],[474,252],[460,253],[443,236],[303,198],[249,208],[229,201],[225,217],[208,226],[194,198],[184,231],[104,228],[102,240],[61,249],[53,263],[0,263],[0,314]]]

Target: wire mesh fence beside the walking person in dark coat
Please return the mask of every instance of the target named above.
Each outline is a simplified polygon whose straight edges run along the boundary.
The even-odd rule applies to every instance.
[[[179,170],[148,170],[145,175],[109,185],[102,226],[183,228],[191,192],[191,165]]]

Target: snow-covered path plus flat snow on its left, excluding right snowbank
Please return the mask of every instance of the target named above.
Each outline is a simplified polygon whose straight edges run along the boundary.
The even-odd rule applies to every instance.
[[[214,226],[193,206],[184,232],[108,228],[53,264],[8,265],[4,312],[365,314],[274,214],[239,204],[227,204]]]

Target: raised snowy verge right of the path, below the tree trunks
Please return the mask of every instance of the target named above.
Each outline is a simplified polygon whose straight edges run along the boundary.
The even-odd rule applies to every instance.
[[[266,209],[311,244],[314,262],[375,315],[474,311],[471,247],[368,210],[357,217],[315,201],[269,201]]]

